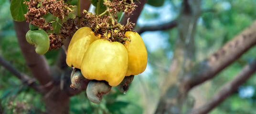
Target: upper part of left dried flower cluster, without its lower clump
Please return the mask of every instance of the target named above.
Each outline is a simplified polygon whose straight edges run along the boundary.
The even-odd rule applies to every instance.
[[[72,12],[70,8],[74,7],[64,3],[64,0],[30,0],[24,1],[23,3],[28,5],[28,12],[24,14],[27,22],[30,22],[32,25],[38,26],[45,31],[53,30],[53,27],[49,22],[45,22],[45,19],[43,18],[44,15],[50,12],[53,16],[63,20],[64,16],[67,16],[69,12]]]

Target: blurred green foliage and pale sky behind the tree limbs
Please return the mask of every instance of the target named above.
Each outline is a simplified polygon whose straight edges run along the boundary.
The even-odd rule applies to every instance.
[[[75,5],[77,0],[68,0]],[[148,0],[138,19],[137,27],[158,25],[179,16],[182,0]],[[235,37],[256,19],[256,0],[202,0],[202,13],[198,19],[195,46],[195,62],[213,54],[224,43]],[[210,11],[207,11],[210,10]],[[213,11],[211,11],[213,10]],[[147,31],[141,34],[148,50],[148,66],[144,73],[135,76],[124,95],[114,87],[104,95],[101,104],[91,103],[85,92],[71,97],[70,114],[149,114],[153,113],[159,100],[160,86],[167,75],[177,28],[162,31]],[[47,52],[48,63],[53,65],[58,50]],[[192,89],[190,97],[194,106],[201,106],[231,80],[247,62],[256,57],[256,47],[251,48],[218,76]],[[14,67],[32,76],[21,54],[10,12],[10,1],[0,0],[0,55]],[[232,56],[232,55],[231,55]],[[210,114],[256,114],[256,75],[228,97]],[[0,112],[6,114],[34,114],[45,111],[42,95],[0,66]],[[188,101],[184,107],[190,107]]]

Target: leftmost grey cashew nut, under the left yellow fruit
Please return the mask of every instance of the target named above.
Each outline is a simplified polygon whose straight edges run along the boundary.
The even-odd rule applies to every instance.
[[[79,88],[81,86],[80,84],[80,80],[85,79],[85,77],[82,75],[81,70],[80,69],[73,69],[72,73],[71,73],[71,85],[70,87],[73,88]]]

